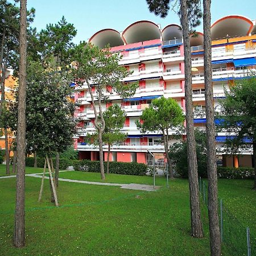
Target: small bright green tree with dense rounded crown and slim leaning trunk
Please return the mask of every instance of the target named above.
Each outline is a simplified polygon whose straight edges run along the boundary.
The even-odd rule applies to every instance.
[[[168,154],[169,129],[174,130],[183,125],[184,115],[172,98],[158,98],[152,101],[152,106],[143,110],[141,115],[142,123],[138,120],[136,125],[142,133],[146,131],[160,131],[163,135],[164,150],[166,152],[170,177],[174,178],[170,155]]]

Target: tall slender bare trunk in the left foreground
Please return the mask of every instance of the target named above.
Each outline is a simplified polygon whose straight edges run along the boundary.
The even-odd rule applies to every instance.
[[[14,246],[25,245],[25,157],[26,157],[26,55],[27,55],[27,1],[20,0],[19,36],[19,101],[18,101],[18,170],[16,177],[16,208]]]

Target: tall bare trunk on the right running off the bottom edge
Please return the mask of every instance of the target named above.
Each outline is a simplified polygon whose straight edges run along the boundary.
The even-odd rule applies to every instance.
[[[207,128],[208,216],[210,229],[210,255],[221,255],[218,225],[218,180],[215,145],[214,101],[212,89],[212,39],[210,37],[210,2],[204,0],[204,84]]]

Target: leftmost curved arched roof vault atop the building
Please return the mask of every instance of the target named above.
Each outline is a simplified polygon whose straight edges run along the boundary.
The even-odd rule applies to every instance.
[[[90,39],[89,42],[98,46],[99,48],[105,48],[107,44],[110,47],[123,46],[123,40],[120,33],[112,28],[106,28],[105,30],[100,30],[96,32]]]

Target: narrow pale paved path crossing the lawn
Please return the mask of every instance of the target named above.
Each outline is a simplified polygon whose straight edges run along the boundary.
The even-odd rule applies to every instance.
[[[67,172],[67,171],[60,171],[60,172]],[[41,173],[41,174],[26,174],[25,176],[42,178],[42,174],[43,173]],[[46,172],[46,174],[48,174],[48,172]],[[0,177],[0,179],[11,178],[11,177],[16,177],[16,175],[2,176],[2,177]],[[45,179],[49,179],[49,177],[45,176]],[[73,182],[73,183],[115,186],[115,187],[121,187],[121,188],[125,188],[125,189],[134,189],[134,190],[143,190],[143,191],[155,191],[160,188],[159,186],[155,186],[155,189],[154,189],[154,187],[152,185],[135,184],[135,183],[130,183],[130,184],[104,183],[104,182],[94,182],[94,181],[85,181],[85,180],[71,180],[71,179],[63,179],[63,178],[59,178],[59,180]]]

